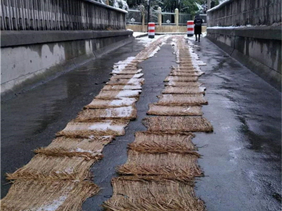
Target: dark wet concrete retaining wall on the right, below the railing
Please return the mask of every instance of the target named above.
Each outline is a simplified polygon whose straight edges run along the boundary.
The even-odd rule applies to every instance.
[[[281,28],[208,28],[207,37],[281,91]]]

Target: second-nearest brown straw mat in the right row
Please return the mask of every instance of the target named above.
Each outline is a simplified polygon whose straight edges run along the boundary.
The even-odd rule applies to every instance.
[[[170,179],[202,176],[198,156],[178,153],[139,153],[128,151],[127,162],[117,167],[119,174],[158,175]]]

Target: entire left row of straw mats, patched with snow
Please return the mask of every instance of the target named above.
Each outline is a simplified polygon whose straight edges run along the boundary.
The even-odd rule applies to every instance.
[[[136,57],[117,62],[107,85],[57,138],[36,149],[28,164],[7,174],[13,184],[1,201],[2,210],[77,211],[98,193],[99,187],[91,182],[91,166],[103,158],[104,146],[124,135],[129,121],[136,118],[135,102],[144,83],[137,65],[162,40],[153,41]]]

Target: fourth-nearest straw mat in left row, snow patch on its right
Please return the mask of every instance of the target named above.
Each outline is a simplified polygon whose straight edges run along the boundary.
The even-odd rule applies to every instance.
[[[58,132],[57,136],[68,136],[76,138],[88,138],[89,136],[123,136],[124,128],[129,120],[96,120],[94,122],[75,122],[70,121],[63,131]]]

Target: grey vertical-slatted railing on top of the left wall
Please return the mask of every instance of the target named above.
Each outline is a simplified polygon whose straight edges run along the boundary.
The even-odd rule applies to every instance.
[[[120,30],[126,11],[92,0],[2,0],[1,30]]]

